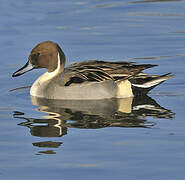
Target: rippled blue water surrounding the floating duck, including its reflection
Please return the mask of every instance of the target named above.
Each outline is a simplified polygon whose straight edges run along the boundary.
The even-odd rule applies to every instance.
[[[0,4],[0,179],[184,179],[185,1]],[[159,65],[148,73],[176,76],[146,101],[126,103],[51,105],[31,100],[28,88],[10,92],[44,72],[11,77],[45,40],[60,44],[67,65],[127,60]]]

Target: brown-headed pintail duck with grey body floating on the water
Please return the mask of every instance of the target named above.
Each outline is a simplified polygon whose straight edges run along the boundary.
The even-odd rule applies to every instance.
[[[33,69],[46,68],[30,88],[37,98],[58,100],[96,100],[146,95],[151,89],[173,77],[172,73],[148,75],[143,71],[154,64],[127,61],[86,60],[65,67],[66,57],[53,41],[36,45],[27,63],[13,73],[20,76]]]

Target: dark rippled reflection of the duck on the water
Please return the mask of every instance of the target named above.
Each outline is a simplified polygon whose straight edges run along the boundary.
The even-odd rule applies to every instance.
[[[24,117],[24,113],[14,112],[14,117],[24,119],[19,125],[30,128],[31,134],[39,137],[60,137],[67,134],[67,128],[151,127],[155,123],[148,122],[148,116],[170,119],[174,115],[148,96],[98,101],[31,97],[31,101],[46,115],[34,119]],[[51,148],[60,144],[52,141],[33,143],[34,146]]]

